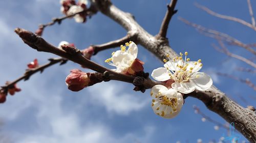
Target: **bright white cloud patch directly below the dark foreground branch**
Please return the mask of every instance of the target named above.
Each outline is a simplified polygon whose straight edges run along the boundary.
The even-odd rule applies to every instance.
[[[102,87],[101,84],[104,84]],[[127,91],[124,83],[118,81],[104,82],[89,87],[90,99],[96,105],[106,107],[110,113],[128,115],[132,111],[138,111],[145,105],[149,105],[150,98],[135,96],[135,92]]]

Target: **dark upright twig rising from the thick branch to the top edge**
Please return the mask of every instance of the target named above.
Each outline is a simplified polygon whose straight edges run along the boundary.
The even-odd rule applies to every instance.
[[[167,11],[165,13],[165,16],[163,18],[158,36],[162,38],[166,38],[168,25],[170,22],[170,19],[172,19],[173,15],[177,13],[178,10],[175,10],[175,6],[178,0],[172,0],[169,5],[167,5]]]

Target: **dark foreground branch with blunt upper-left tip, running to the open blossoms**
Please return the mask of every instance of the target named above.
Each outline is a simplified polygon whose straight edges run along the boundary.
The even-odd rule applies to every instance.
[[[115,72],[113,70],[110,70],[108,68],[105,68],[101,65],[98,65],[97,63],[94,63],[87,58],[85,58],[81,51],[75,47],[68,47],[67,49],[60,49],[57,48],[48,42],[46,42],[43,38],[40,36],[35,35],[34,33],[30,31],[26,31],[22,28],[16,28],[15,32],[19,35],[22,40],[29,45],[30,47],[36,49],[37,51],[44,51],[44,52],[50,52],[56,55],[61,56],[62,58],[68,59],[70,61],[73,61],[77,64],[80,64],[84,67],[87,67],[89,69],[92,69],[99,73],[109,73],[110,80],[119,80],[124,82],[129,82],[134,84],[134,80],[136,79],[135,76],[125,75],[122,73]],[[140,83],[137,83],[143,86],[144,89],[151,89],[156,84],[163,84],[160,82],[156,82],[151,80],[150,78],[143,78],[143,80]],[[137,85],[136,84],[136,85]]]

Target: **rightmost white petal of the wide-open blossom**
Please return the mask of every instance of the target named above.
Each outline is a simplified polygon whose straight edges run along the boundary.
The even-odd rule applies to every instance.
[[[195,88],[199,91],[205,91],[209,89],[212,85],[211,77],[203,72],[196,72],[192,74],[191,79],[189,79],[189,81],[191,83],[194,83]]]

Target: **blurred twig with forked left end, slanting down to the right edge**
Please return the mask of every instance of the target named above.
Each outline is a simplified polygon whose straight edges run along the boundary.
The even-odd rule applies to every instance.
[[[243,61],[243,62],[245,62],[246,64],[252,66],[253,68],[256,68],[256,64],[255,64],[255,63],[253,63],[252,61],[250,61],[250,60],[244,58],[243,56],[240,56],[240,55],[238,55],[238,54],[231,53],[231,52],[227,49],[227,47],[224,45],[224,43],[223,43],[221,40],[218,40],[218,41],[219,41],[219,44],[220,44],[220,46],[221,46],[222,49],[221,49],[221,50],[218,50],[218,48],[216,47],[216,45],[212,45],[212,46],[215,47],[215,49],[217,49],[218,51],[220,51],[220,52],[222,52],[222,53],[225,53],[226,55],[228,55],[228,56],[230,56],[230,57],[232,57],[232,58],[235,58],[235,59],[238,59],[238,60],[240,60],[240,61]]]

